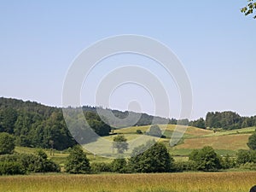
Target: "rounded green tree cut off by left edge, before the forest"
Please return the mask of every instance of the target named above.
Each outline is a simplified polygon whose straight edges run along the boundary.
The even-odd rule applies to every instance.
[[[6,132],[0,133],[0,154],[12,154],[15,150],[15,137]]]

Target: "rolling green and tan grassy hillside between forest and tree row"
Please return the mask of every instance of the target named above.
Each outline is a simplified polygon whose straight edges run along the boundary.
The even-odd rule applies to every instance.
[[[187,160],[186,157],[194,148],[202,148],[203,146],[209,145],[214,148],[218,154],[230,154],[235,155],[238,149],[248,149],[247,148],[247,139],[255,131],[255,127],[243,128],[240,130],[233,131],[220,131],[213,132],[209,130],[198,129],[195,127],[189,126],[187,131],[184,133],[182,140],[175,147],[169,147],[170,137],[172,137],[172,132],[175,130],[176,125],[167,125],[166,127],[160,125],[160,128],[163,131],[163,134],[166,138],[161,138],[160,142],[165,143],[166,147],[169,149],[169,152],[172,155],[175,155],[177,160]],[[128,141],[132,141],[135,138],[141,137],[136,133],[137,130],[143,132],[149,129],[148,126],[132,126],[128,128],[123,128],[116,130],[115,133],[124,134]],[[113,136],[104,137],[109,141],[113,141]],[[150,137],[155,138],[155,137]],[[142,141],[143,144],[143,141]],[[105,150],[104,146],[99,146],[102,152]],[[16,152],[19,153],[28,153],[32,154],[36,152],[36,148],[22,148],[16,147]],[[49,150],[45,150],[49,156]],[[128,151],[131,153],[131,151]],[[86,152],[87,157],[90,159],[90,162],[110,162],[111,159],[103,158],[89,152]],[[54,160],[56,163],[64,166],[66,162],[68,152],[55,152],[54,156],[49,156],[50,159]]]

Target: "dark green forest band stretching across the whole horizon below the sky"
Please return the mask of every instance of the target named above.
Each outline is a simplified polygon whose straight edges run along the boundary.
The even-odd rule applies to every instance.
[[[75,108],[73,109],[75,110]],[[108,136],[114,129],[134,125],[133,119],[137,119],[135,125],[189,124],[202,129],[231,130],[256,125],[256,116],[241,117],[234,112],[209,112],[206,119],[201,118],[189,122],[189,119],[165,119],[147,113],[121,112],[108,108],[84,106],[82,109],[90,128],[99,136]],[[105,116],[101,118],[96,113],[97,110],[101,110]],[[110,114],[112,113],[116,118],[111,118]],[[83,120],[81,119],[84,117],[69,117],[69,119],[73,121],[74,127],[83,127]],[[86,128],[84,130],[86,131]],[[15,145],[24,147],[63,150],[76,144],[72,137],[74,134],[71,135],[67,129],[61,108],[44,106],[38,102],[23,102],[22,100],[0,97],[0,132],[8,132],[13,135]]]

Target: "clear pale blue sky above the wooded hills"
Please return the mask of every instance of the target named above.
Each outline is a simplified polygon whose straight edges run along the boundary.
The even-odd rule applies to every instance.
[[[240,13],[246,3],[1,1],[0,96],[61,107],[63,81],[81,50],[109,36],[138,34],[158,39],[182,61],[193,90],[191,119],[205,117],[208,111],[255,115],[256,20]],[[127,56],[110,61],[143,63],[141,58]],[[148,69],[161,74],[158,68]],[[89,87],[93,87],[93,78],[101,78],[100,72],[91,75]],[[171,95],[172,86],[173,82]],[[150,100],[136,85],[129,89],[137,90],[138,101]],[[113,108],[127,109],[124,96],[130,94],[129,89],[124,86],[113,93]],[[89,98],[92,93],[85,90],[82,96]],[[173,106],[177,98],[172,97]],[[150,103],[149,107],[147,102],[142,104],[143,112],[153,113]],[[94,103],[88,99],[84,104]],[[178,105],[172,109],[173,117],[177,117],[176,108]]]

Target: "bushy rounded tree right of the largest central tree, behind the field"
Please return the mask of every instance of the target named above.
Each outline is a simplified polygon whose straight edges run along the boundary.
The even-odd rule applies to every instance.
[[[197,169],[204,172],[214,172],[221,168],[221,163],[218,155],[210,146],[195,149],[189,154],[189,160],[194,160],[197,164]]]

